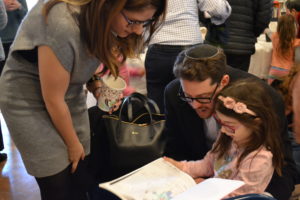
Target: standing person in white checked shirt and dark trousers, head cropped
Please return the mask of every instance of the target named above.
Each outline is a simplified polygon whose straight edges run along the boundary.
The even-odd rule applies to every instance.
[[[145,58],[147,95],[161,111],[165,87],[175,78],[172,70],[177,55],[187,47],[203,43],[199,10],[215,24],[224,23],[231,12],[226,0],[169,0],[166,19],[151,38]]]

